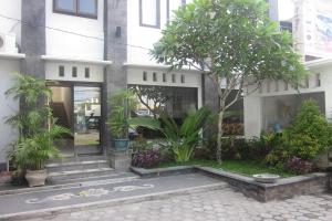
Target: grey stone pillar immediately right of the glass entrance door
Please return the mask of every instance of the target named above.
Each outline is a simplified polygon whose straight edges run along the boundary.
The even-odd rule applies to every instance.
[[[117,91],[127,87],[127,0],[105,0],[104,28],[105,28],[105,60],[113,62],[105,70],[105,93],[107,97]],[[115,34],[117,32],[117,34]],[[105,107],[106,113],[112,113],[112,106]],[[105,126],[106,127],[106,126]],[[111,166],[123,170],[131,165],[131,154],[115,151],[112,148],[110,130],[105,128],[105,147],[111,157]]]

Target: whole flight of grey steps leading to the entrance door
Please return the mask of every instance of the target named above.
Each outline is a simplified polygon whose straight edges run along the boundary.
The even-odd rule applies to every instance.
[[[68,157],[51,160],[46,165],[48,185],[68,185],[87,181],[114,182],[137,179],[132,172],[115,171],[110,168],[104,156]]]

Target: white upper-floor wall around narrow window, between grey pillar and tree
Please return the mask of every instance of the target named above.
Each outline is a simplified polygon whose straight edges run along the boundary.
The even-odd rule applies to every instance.
[[[170,10],[175,10],[179,6],[180,0],[169,0]],[[152,61],[151,55],[148,54],[148,50],[146,49],[152,49],[153,44],[162,38],[162,30],[165,28],[167,21],[166,0],[160,0],[160,29],[139,25],[139,0],[128,0],[127,10],[127,62],[137,64],[154,64],[155,62]],[[141,49],[139,46],[145,49]]]

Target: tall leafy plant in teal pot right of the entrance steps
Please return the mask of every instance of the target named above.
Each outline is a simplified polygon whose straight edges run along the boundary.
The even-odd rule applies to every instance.
[[[151,117],[132,116],[138,105],[136,94],[132,90],[123,90],[110,98],[110,125],[113,145],[116,150],[126,150],[129,146],[128,130],[137,127],[158,129],[159,122]]]

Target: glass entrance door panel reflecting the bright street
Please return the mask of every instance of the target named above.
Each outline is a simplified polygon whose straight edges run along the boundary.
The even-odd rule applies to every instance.
[[[89,147],[101,145],[101,87],[74,86],[74,146],[93,152]]]

